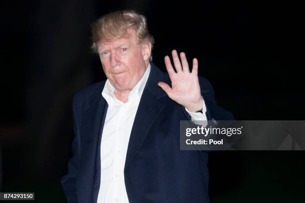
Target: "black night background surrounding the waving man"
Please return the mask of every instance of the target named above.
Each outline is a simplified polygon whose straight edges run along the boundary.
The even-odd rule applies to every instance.
[[[305,120],[301,6],[279,1],[40,0],[1,5],[0,191],[65,202],[73,95],[105,79],[90,24],[134,8],[148,18],[154,63],[172,49],[237,120]],[[303,67],[303,68],[302,68]],[[211,202],[303,202],[303,151],[210,154]],[[11,201],[10,201],[11,202]]]

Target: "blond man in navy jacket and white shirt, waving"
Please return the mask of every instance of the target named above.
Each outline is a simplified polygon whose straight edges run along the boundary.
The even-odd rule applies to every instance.
[[[73,99],[74,156],[62,185],[69,203],[209,202],[208,154],[179,150],[180,120],[230,120],[184,53],[150,60],[146,18],[115,11],[92,25],[107,81]],[[171,86],[169,86],[170,84]]]

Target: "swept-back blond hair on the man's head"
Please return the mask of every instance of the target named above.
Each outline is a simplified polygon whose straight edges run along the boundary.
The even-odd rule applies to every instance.
[[[154,39],[148,31],[146,17],[134,10],[118,10],[107,13],[93,22],[91,28],[94,52],[98,51],[98,43],[111,42],[124,37],[128,35],[129,29],[136,31],[139,44],[150,42],[153,47]]]

